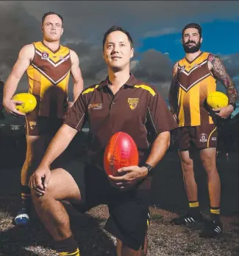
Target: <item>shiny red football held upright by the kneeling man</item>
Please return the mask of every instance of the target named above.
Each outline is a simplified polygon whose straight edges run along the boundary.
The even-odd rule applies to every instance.
[[[114,134],[104,151],[104,170],[107,175],[117,176],[121,167],[138,165],[138,148],[129,134]]]

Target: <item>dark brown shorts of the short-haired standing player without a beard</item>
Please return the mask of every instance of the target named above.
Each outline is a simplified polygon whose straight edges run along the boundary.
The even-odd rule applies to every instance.
[[[32,117],[26,114],[25,132],[26,135],[54,135],[60,126],[63,125],[63,119],[52,117]]]

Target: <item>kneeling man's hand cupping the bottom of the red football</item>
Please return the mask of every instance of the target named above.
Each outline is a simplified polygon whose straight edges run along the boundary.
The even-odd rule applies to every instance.
[[[146,167],[129,166],[118,169],[120,176],[109,175],[110,183],[119,190],[128,190],[148,174]]]

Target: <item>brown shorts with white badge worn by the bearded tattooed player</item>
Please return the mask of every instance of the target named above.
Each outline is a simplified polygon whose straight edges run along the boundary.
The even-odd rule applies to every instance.
[[[218,131],[214,124],[184,126],[178,128],[179,151],[186,151],[193,145],[196,148],[216,148]]]

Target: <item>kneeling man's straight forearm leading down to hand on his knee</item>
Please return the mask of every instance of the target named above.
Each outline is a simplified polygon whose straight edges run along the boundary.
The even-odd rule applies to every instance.
[[[76,135],[77,131],[74,128],[71,128],[68,125],[62,125],[61,128],[57,131],[57,134],[51,139],[49,147],[46,150],[45,155],[43,156],[40,166],[50,166],[61,153],[70,144],[71,140]]]

